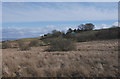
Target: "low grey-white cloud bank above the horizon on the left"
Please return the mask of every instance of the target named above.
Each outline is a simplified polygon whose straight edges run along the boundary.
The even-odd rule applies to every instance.
[[[44,35],[47,33],[51,33],[52,30],[64,31],[66,32],[69,28],[75,29],[77,25],[47,25],[44,28],[36,27],[36,28],[17,28],[17,27],[7,27],[2,28],[3,38],[29,38],[29,37],[39,37],[40,35]]]

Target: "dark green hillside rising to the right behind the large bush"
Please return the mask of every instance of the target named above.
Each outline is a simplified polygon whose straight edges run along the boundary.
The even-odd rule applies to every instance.
[[[76,29],[69,29],[67,33],[56,31],[54,33],[48,33],[41,37],[41,40],[45,41],[53,38],[66,38],[73,41],[84,42],[92,40],[108,40],[108,39],[119,39],[120,27],[113,27],[108,29],[99,30],[85,30],[74,31]]]

